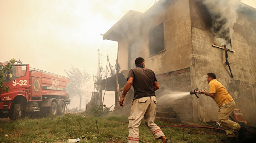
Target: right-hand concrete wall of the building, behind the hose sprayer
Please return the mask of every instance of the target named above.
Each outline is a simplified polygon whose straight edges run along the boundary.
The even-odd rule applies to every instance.
[[[189,0],[189,5],[195,59],[194,66],[191,67],[192,87],[209,91],[206,74],[214,72],[216,79],[236,102],[236,109],[242,111],[249,125],[256,125],[256,114],[252,113],[252,110],[256,110],[256,19],[251,14],[255,14],[256,10],[248,10],[241,5],[237,11],[237,22],[234,23],[234,32],[230,35],[233,52],[228,51],[228,61],[234,76],[232,78],[225,64],[224,50],[212,47],[214,37],[209,12],[200,1]],[[202,96],[200,100],[193,99],[193,111],[196,121],[218,119],[218,106],[208,96]]]

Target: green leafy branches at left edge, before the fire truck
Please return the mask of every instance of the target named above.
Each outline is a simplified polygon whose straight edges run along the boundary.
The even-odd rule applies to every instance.
[[[6,82],[6,71],[10,70],[12,68],[12,65],[15,63],[15,59],[10,59],[10,62],[7,63],[7,65],[0,65],[0,91],[1,92],[8,92],[9,87],[4,85],[4,82]]]

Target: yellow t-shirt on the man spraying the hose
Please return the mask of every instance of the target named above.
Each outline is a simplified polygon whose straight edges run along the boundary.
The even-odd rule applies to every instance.
[[[213,99],[219,107],[224,103],[233,101],[233,98],[228,93],[227,89],[225,89],[225,87],[216,79],[211,80],[208,85],[210,86],[209,93],[215,93]]]

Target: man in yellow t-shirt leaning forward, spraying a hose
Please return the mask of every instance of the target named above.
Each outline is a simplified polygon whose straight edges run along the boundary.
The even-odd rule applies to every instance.
[[[247,129],[243,126],[240,126],[238,123],[228,119],[229,115],[232,113],[236,106],[233,98],[228,93],[227,89],[225,89],[225,87],[216,80],[216,75],[214,73],[207,73],[206,81],[208,82],[208,85],[210,87],[209,92],[205,90],[200,90],[199,93],[212,97],[212,99],[214,99],[214,101],[219,106],[218,122],[225,130],[227,140],[236,140],[236,135],[233,133],[232,129],[238,130],[238,138],[242,139]]]

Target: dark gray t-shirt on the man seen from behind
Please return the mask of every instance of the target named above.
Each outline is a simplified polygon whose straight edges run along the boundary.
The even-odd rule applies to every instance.
[[[127,80],[129,77],[133,77],[133,99],[146,96],[156,96],[154,91],[154,82],[157,80],[155,73],[152,70],[145,67],[132,68],[128,73]]]

